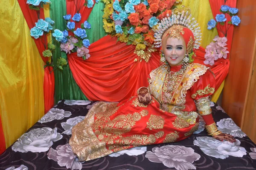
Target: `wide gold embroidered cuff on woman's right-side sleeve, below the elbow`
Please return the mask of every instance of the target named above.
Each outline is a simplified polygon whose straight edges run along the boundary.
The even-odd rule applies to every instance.
[[[210,107],[210,101],[211,101],[210,96],[195,100],[195,106],[198,109],[198,112],[200,115],[209,115],[212,113],[212,109]]]

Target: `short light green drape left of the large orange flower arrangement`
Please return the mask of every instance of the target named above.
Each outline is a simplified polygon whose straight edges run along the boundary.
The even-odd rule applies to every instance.
[[[96,3],[87,20],[91,24],[91,29],[87,29],[86,31],[90,43],[94,43],[105,35],[108,35],[103,29],[102,15],[104,14],[104,7],[105,4],[103,2]]]

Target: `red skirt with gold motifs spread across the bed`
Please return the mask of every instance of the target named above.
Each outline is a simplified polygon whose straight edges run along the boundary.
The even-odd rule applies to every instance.
[[[69,144],[80,161],[141,145],[183,140],[198,129],[195,124],[160,109],[153,99],[148,106],[137,96],[120,103],[98,102],[72,129]]]

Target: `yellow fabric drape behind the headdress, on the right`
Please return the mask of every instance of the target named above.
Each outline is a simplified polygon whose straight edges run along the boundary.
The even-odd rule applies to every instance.
[[[218,35],[216,29],[208,30],[207,23],[210,19],[214,19],[212,15],[212,9],[209,3],[209,0],[183,0],[182,3],[179,3],[178,7],[180,8],[182,5],[188,6],[191,9],[191,14],[198,21],[199,26],[201,27],[202,40],[201,46],[206,48],[209,43],[212,42],[212,39]],[[221,91],[224,87],[224,81],[221,86],[215,91],[212,96],[212,101],[217,102]]]

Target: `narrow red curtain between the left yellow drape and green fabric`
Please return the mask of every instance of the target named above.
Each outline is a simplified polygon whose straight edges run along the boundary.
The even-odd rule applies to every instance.
[[[18,0],[20,5],[20,9],[24,15],[26,23],[29,26],[29,29],[32,29],[35,26],[35,23],[38,21],[38,11],[29,9],[29,5],[26,3],[26,0]],[[44,18],[44,9],[40,9],[40,19]],[[48,61],[48,58],[43,56],[43,51],[47,49],[47,37],[43,35],[41,38],[35,39],[35,44],[38,48],[38,51],[41,55],[44,63]],[[46,45],[46,48],[44,46]],[[44,69],[44,112],[48,112],[54,105],[54,74],[52,71],[52,67],[46,67]]]

